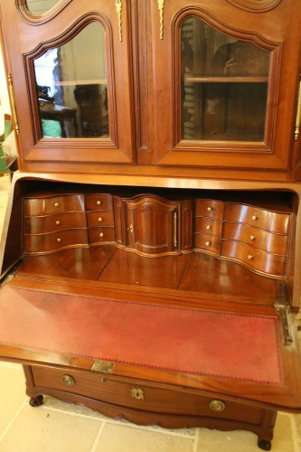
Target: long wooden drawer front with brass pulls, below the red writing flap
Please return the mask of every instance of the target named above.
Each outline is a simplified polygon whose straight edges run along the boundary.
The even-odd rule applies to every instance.
[[[239,403],[222,402],[186,391],[155,388],[141,381],[125,382],[93,372],[43,369],[32,367],[34,385],[68,391],[105,403],[172,415],[207,416],[219,419],[240,419],[259,424],[261,410]]]

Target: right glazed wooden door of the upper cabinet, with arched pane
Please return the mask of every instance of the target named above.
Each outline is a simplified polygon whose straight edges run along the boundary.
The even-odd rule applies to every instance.
[[[300,21],[301,4],[290,0],[158,0],[158,165],[291,176]]]

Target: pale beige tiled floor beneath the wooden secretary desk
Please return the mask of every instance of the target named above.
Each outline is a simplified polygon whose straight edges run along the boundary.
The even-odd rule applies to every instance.
[[[9,178],[0,177],[0,231]],[[105,418],[45,396],[32,408],[18,364],[0,363],[0,452],[259,452],[246,431],[166,430]],[[279,413],[272,450],[301,451],[301,415]]]

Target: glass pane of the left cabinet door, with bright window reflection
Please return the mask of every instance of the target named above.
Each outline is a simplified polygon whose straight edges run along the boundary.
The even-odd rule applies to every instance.
[[[34,60],[42,137],[108,137],[105,33],[87,25]]]

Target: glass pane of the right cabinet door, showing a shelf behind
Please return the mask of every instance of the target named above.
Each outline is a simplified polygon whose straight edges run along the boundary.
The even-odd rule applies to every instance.
[[[269,52],[196,17],[181,29],[182,139],[263,141]]]

